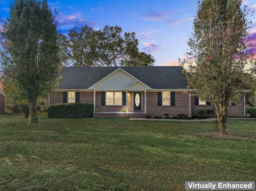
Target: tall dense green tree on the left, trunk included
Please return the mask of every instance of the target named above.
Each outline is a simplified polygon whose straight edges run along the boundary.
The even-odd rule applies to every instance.
[[[56,11],[46,0],[14,0],[1,30],[3,78],[29,102],[29,124],[37,123],[36,100],[56,85],[61,63]]]

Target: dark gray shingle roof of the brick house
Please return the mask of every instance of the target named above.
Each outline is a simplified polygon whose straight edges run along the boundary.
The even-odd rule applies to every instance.
[[[57,89],[88,89],[113,71],[122,68],[152,89],[186,89],[187,80],[179,66],[153,67],[63,67]]]

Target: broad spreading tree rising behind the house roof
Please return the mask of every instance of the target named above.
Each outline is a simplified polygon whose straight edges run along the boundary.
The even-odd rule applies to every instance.
[[[69,66],[151,66],[150,54],[138,51],[135,33],[105,26],[95,31],[88,26],[73,28],[68,36],[60,34],[58,43],[63,63]]]

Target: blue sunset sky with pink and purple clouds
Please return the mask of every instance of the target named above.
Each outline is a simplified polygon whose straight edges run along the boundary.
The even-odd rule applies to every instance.
[[[0,0],[4,20],[9,16],[10,2]],[[196,0],[49,0],[48,4],[58,12],[59,33],[67,34],[74,26],[102,30],[116,25],[123,32],[136,33],[139,50],[150,53],[156,59],[155,66],[178,65],[178,58],[188,49],[186,41],[198,8]],[[255,0],[244,4],[256,11]],[[256,19],[251,20],[250,35],[256,38]],[[256,48],[253,51],[256,53]]]

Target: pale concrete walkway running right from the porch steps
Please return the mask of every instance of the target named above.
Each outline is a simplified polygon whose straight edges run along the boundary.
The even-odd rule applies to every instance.
[[[246,118],[246,117],[242,117],[242,118],[238,118],[238,117],[229,117],[228,119],[256,119],[256,118]],[[148,121],[148,120],[154,120],[154,121],[194,121],[194,122],[198,122],[198,121],[215,121],[218,120],[217,117],[210,117],[210,118],[206,118],[206,119],[155,119],[155,118],[129,118],[129,120],[144,120],[144,121]]]

